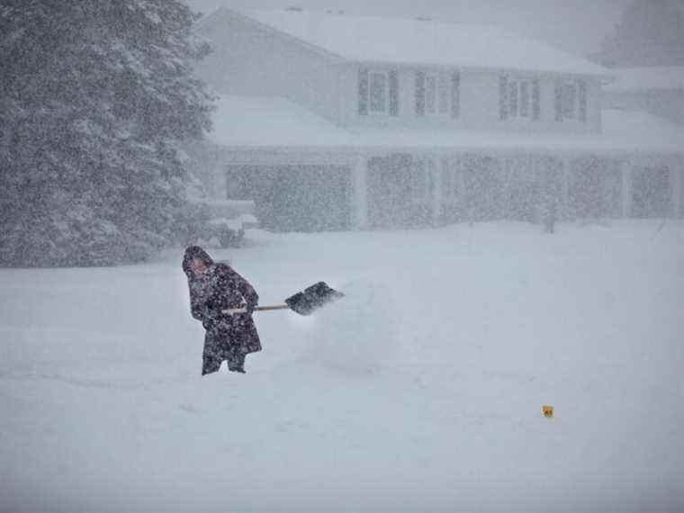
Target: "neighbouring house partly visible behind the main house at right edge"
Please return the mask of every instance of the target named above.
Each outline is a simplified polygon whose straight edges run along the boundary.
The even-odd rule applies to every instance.
[[[684,67],[618,67],[615,82],[603,88],[610,109],[652,112],[684,124]]]

